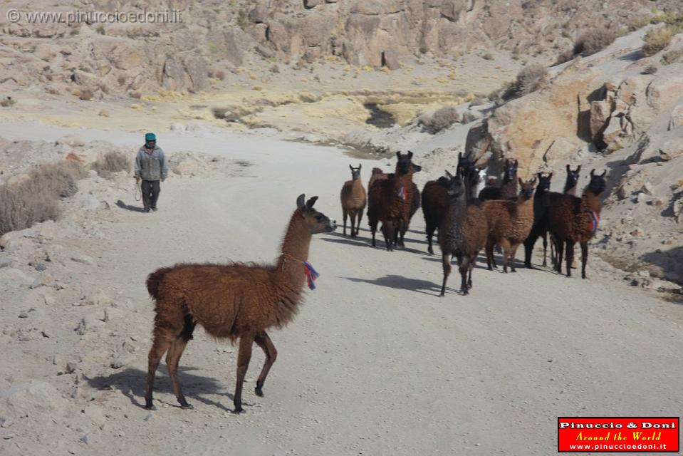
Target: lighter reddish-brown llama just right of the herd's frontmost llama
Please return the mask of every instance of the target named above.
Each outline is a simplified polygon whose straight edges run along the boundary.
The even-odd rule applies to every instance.
[[[494,265],[494,245],[503,248],[503,272],[516,272],[515,255],[517,247],[522,244],[533,226],[533,186],[536,177],[529,182],[522,182],[521,192],[516,201],[510,199],[493,199],[481,203],[486,219],[489,221],[489,239],[486,241],[486,262],[491,270]]]

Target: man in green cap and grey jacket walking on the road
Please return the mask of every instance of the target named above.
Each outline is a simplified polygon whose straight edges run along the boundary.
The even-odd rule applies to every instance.
[[[168,176],[168,167],[164,157],[164,151],[157,145],[157,137],[154,133],[145,135],[145,145],[140,147],[135,157],[135,182],[140,185],[142,180],[142,204],[145,212],[157,210],[159,199],[159,181],[164,182]]]

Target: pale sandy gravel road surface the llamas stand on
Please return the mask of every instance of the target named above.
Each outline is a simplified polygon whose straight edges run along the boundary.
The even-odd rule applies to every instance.
[[[26,138],[21,128],[31,130],[4,123],[0,136]],[[46,140],[74,133],[32,131]],[[138,142],[125,133],[78,135]],[[73,280],[132,306],[78,346],[58,348],[57,333],[36,348],[45,356],[85,354],[79,368],[85,394],[72,401],[96,403],[106,425],[87,443],[66,437],[73,416],[36,431],[40,438],[0,428],[1,454],[548,455],[556,452],[558,415],[674,416],[682,410],[679,306],[590,265],[589,280],[479,267],[470,296],[457,294],[454,274],[439,299],[440,259],[425,254],[421,212],[403,251],[368,247],[365,219],[359,239],[342,237],[340,229],[313,239],[318,289],[290,326],[271,333],[279,355],[265,398],[253,393],[263,363],[254,351],[246,413],[231,413],[236,349],[201,330],[180,371],[194,410],[177,407],[163,365],[157,410],[144,410],[152,327],[147,274],[177,261],[272,261],[296,197],[318,195],[316,208],[340,222],[339,190],[350,174],[340,150],[276,137],[172,132],[160,145],[251,165],[224,179],[170,178],[157,213],[114,209],[104,239],[88,247],[98,266]],[[364,181],[376,164],[363,161]],[[132,191],[125,203],[139,204]],[[140,350],[122,368],[87,356],[129,338],[140,341]],[[66,395],[68,375],[41,371],[46,361],[26,357],[21,343],[8,343],[0,360],[2,371],[25,370]]]

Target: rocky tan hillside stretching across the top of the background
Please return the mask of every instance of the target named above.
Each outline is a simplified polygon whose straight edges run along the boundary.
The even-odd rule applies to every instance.
[[[554,58],[583,28],[619,30],[652,1],[6,1],[26,11],[180,11],[173,24],[31,24],[0,16],[0,83],[85,100],[229,87],[246,63],[267,72],[343,58],[397,68],[415,56],[504,50]],[[680,9],[678,1],[657,8]]]

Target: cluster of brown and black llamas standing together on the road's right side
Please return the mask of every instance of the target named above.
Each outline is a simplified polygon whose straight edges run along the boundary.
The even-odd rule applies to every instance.
[[[487,185],[482,188],[486,171],[476,167],[469,157],[458,157],[456,174],[446,171],[438,180],[427,182],[420,197],[413,174],[421,167],[412,162],[412,152],[396,153],[395,171],[384,173],[375,168],[365,188],[360,180],[360,168],[351,167],[352,179],[345,182],[341,192],[344,214],[351,217],[351,236],[354,217],[363,217],[367,204],[367,219],[375,247],[377,226],[386,248],[403,246],[405,232],[412,216],[422,205],[427,252],[434,254],[434,232],[442,251],[443,282],[440,296],[444,296],[451,272],[451,261],[457,259],[461,275],[460,291],[469,294],[472,286],[472,270],[479,252],[484,249],[488,269],[497,268],[494,248],[503,254],[503,271],[516,272],[515,258],[519,246],[524,245],[524,265],[531,266],[531,254],[539,237],[543,238],[543,266],[547,266],[548,235],[551,238],[551,261],[553,269],[561,274],[563,257],[565,271],[571,276],[575,244],[581,248],[581,276],[585,279],[588,261],[588,241],[593,238],[600,222],[600,208],[605,192],[605,175],[590,171],[590,183],[580,197],[576,196],[580,165],[572,170],[567,165],[567,177],[562,193],[551,192],[553,173],[538,172],[536,177],[524,182],[517,175],[517,160],[506,160],[500,187]]]

